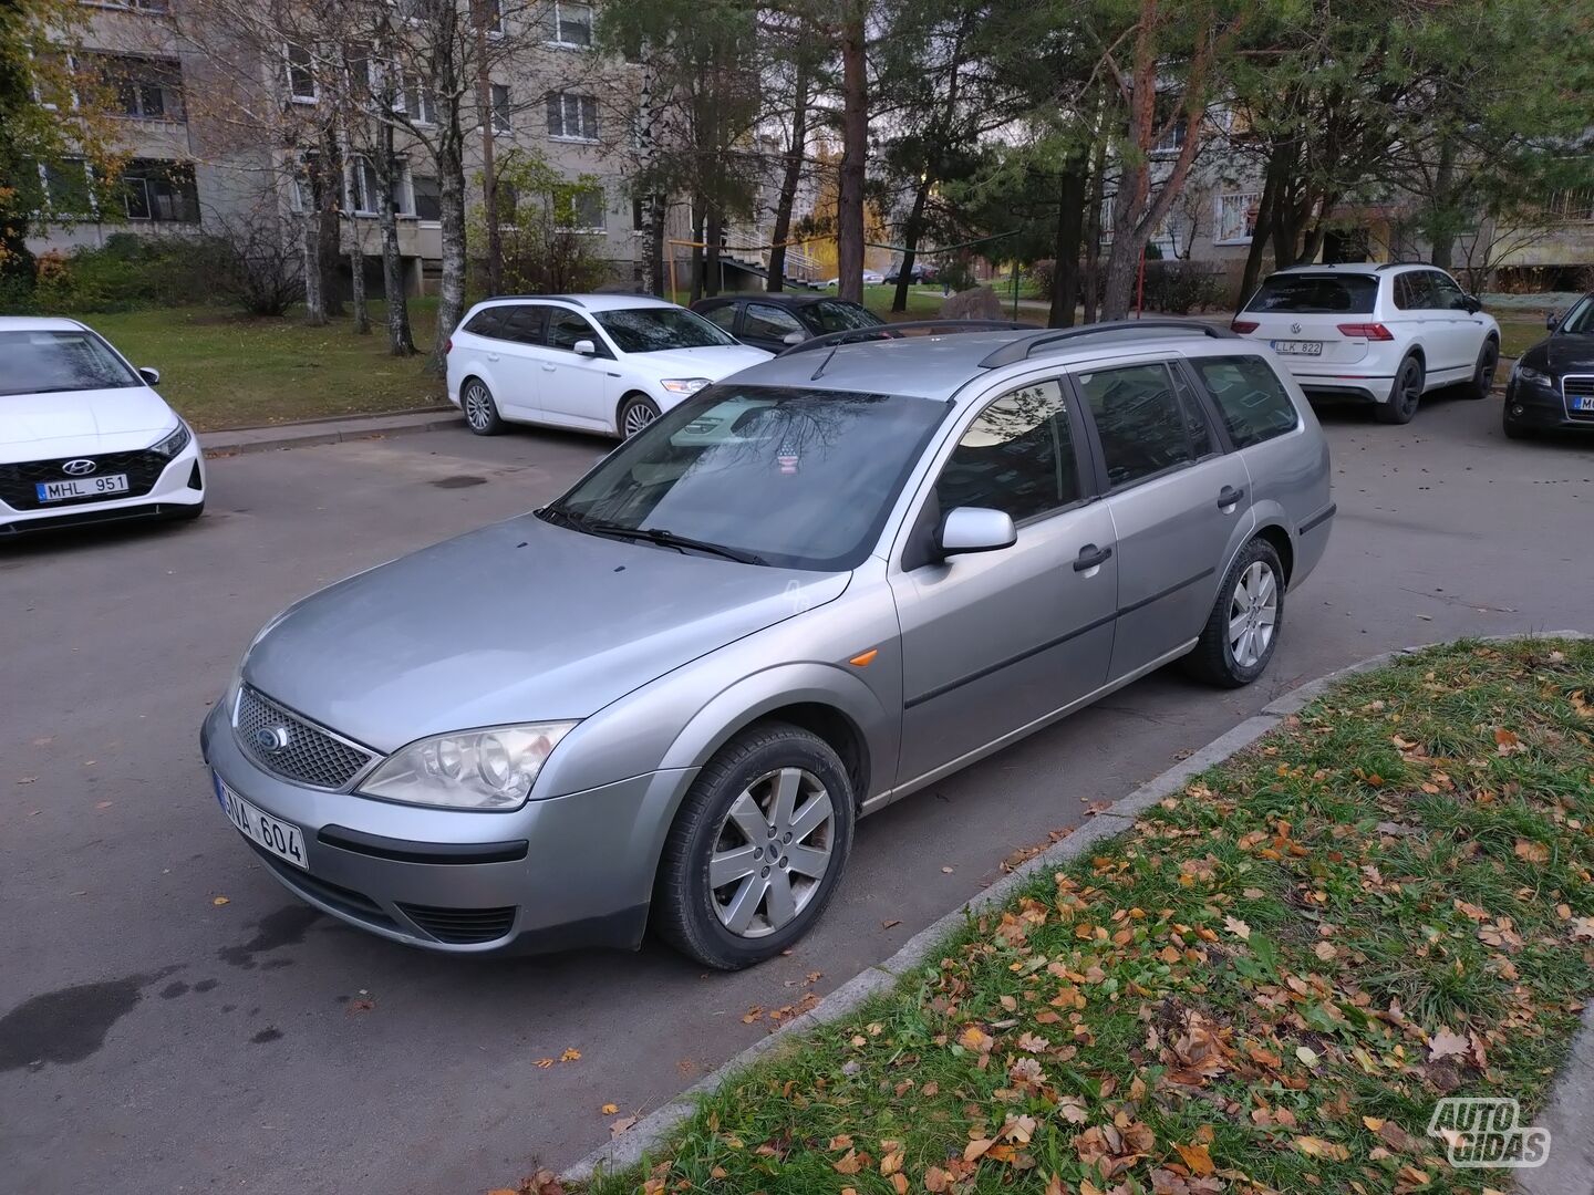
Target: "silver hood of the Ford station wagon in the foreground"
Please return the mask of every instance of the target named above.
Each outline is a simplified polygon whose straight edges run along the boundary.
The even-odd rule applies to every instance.
[[[588,717],[834,601],[850,577],[585,535],[521,515],[289,607],[250,648],[244,679],[391,752],[451,730]]]

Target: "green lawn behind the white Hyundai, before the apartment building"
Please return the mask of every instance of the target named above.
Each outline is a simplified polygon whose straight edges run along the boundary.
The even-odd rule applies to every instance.
[[[352,320],[325,328],[298,319],[252,319],[222,308],[83,315],[134,362],[161,371],[161,395],[201,432],[290,419],[403,411],[443,402],[422,357],[389,357],[384,304],[370,336]],[[410,303],[416,346],[430,347],[435,300]]]

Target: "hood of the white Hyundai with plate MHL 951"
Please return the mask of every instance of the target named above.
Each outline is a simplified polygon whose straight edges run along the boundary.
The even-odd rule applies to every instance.
[[[153,445],[177,416],[148,386],[0,395],[0,460],[126,453]]]

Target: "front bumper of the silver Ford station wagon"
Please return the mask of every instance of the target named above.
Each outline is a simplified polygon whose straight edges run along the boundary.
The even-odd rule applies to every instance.
[[[215,778],[300,829],[308,870],[244,840],[284,887],[351,926],[451,954],[636,948],[669,819],[695,776],[655,771],[470,813],[290,784],[239,749],[225,704],[199,739]]]

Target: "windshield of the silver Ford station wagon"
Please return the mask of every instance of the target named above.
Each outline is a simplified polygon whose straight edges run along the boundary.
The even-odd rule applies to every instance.
[[[626,440],[553,510],[787,569],[858,567],[948,405],[711,386]]]

